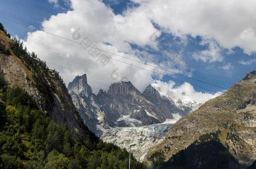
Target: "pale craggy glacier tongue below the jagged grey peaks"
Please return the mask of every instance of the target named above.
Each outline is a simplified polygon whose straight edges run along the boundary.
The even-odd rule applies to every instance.
[[[131,148],[133,156],[138,161],[143,161],[152,145],[162,141],[173,124],[151,124],[138,127],[115,127],[105,129],[100,136],[103,141],[120,146],[129,150],[129,145],[136,144]]]

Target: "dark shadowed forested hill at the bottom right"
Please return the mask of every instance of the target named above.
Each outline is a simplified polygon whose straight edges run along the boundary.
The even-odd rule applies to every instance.
[[[153,164],[159,169],[240,169],[240,164],[220,143],[218,134],[219,131],[201,135],[199,140],[179,151],[167,162],[161,162],[161,152],[153,154]]]

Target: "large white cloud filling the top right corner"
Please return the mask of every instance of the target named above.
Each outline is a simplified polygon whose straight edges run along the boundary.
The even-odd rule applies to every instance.
[[[175,35],[214,38],[223,47],[256,51],[255,1],[240,0],[133,0],[140,7],[133,13],[146,14]]]

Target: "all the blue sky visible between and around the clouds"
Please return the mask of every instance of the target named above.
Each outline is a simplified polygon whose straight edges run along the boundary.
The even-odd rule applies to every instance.
[[[56,1],[57,2],[57,1]],[[104,5],[111,8],[115,15],[123,15],[129,9],[136,9],[140,6],[136,1],[130,0],[103,0]],[[49,3],[47,0],[3,0],[0,3],[0,16],[8,18],[10,20],[16,20],[25,25],[33,25],[36,29],[42,28],[42,21],[48,20],[51,15],[57,15],[58,13],[65,13],[70,9],[70,6],[67,5],[64,1],[60,0],[58,3]],[[85,9],[86,10],[86,9]],[[170,16],[171,17],[171,16]],[[17,28],[8,20],[0,18],[0,22],[3,23],[8,32],[12,35],[18,35],[19,38],[27,38],[27,30]],[[154,21],[152,21],[154,22]],[[164,24],[163,24],[164,25]],[[229,49],[226,48],[228,45],[222,45],[218,40],[208,39],[204,41],[201,35],[189,35],[186,34],[186,43],[183,44],[182,38],[177,38],[170,31],[165,31],[166,29],[163,26],[154,24],[155,28],[161,31],[161,35],[157,37],[157,43],[159,45],[170,45],[172,48],[175,48],[178,52],[182,53],[182,57],[186,62],[186,68],[182,74],[189,75],[192,74],[193,78],[197,78],[201,81],[206,81],[213,83],[225,88],[230,88],[232,84],[237,81],[240,81],[246,73],[256,69],[255,64],[240,64],[240,61],[249,61],[254,59],[254,54],[248,55],[244,53],[244,49],[240,47],[235,47],[235,45]],[[21,26],[23,27],[23,26]],[[33,30],[35,31],[35,30]],[[214,38],[214,37],[213,37]],[[205,43],[202,43],[205,42]],[[232,41],[230,41],[232,42]],[[50,42],[49,42],[50,43]],[[111,43],[110,43],[111,44]],[[154,60],[154,63],[164,63],[165,61],[170,61],[170,58],[166,55],[165,50],[159,48],[152,48],[150,45],[139,45],[136,43],[129,42],[133,50],[139,50],[141,52],[146,51],[148,55],[154,55],[157,59]],[[195,53],[200,55],[202,51],[209,52],[209,48],[213,45],[213,50],[217,50],[217,55],[221,57],[217,61],[211,61],[212,58],[204,60],[202,58],[195,58]],[[182,47],[180,47],[182,46]],[[207,50],[207,51],[206,51]],[[214,52],[211,51],[211,52]],[[216,51],[215,51],[216,52]],[[204,52],[202,52],[204,54]],[[202,54],[201,53],[201,54]],[[40,54],[38,53],[40,56]],[[193,57],[194,56],[194,57]],[[144,56],[146,57],[146,56]],[[212,57],[212,56],[210,56]],[[44,57],[43,57],[44,58]],[[217,58],[218,59],[218,58]],[[165,67],[167,68],[167,67]],[[57,68],[56,68],[57,69]],[[62,71],[60,71],[62,72]],[[88,72],[85,72],[88,73]],[[61,73],[65,79],[65,73]],[[210,88],[213,91],[222,91],[221,88],[213,87],[206,85],[204,83],[199,83],[198,81],[193,81],[188,78],[184,78],[178,75],[171,75],[173,78],[180,79],[182,81],[188,81],[198,86],[205,88]],[[70,81],[67,78],[67,81]],[[164,77],[162,81],[169,81],[169,79]],[[173,80],[175,81],[175,80]],[[181,83],[175,81],[176,83]],[[194,87],[196,91],[205,91],[204,89]],[[209,92],[211,93],[211,92]]]

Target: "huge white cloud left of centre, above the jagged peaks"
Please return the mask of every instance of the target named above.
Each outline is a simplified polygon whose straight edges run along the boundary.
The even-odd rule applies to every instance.
[[[72,0],[71,2],[71,11],[52,15],[49,20],[42,22],[44,31],[72,39],[73,34],[74,38],[77,37],[76,30],[79,28],[80,38],[75,39],[78,42],[88,37],[91,42],[89,45],[96,45],[103,50],[137,61],[146,61],[153,66],[159,66],[154,63],[154,55],[132,50],[129,45],[129,43],[135,43],[139,46],[154,45],[150,36],[154,32],[156,32],[156,36],[160,34],[150,20],[144,20],[144,13],[138,15],[130,13],[125,16],[115,15],[110,8],[98,0]],[[86,41],[83,43],[86,43]],[[106,66],[102,67],[102,63],[99,61],[101,55],[93,58],[88,53],[90,48],[83,46],[86,48],[85,50],[78,43],[52,36],[40,30],[29,33],[25,45],[46,61],[50,68],[59,71],[65,83],[72,81],[77,75],[86,73],[88,81],[91,85],[94,85],[95,91],[99,90],[97,84],[102,87],[105,83],[119,82],[123,77],[133,83],[140,81],[147,83],[149,82],[148,74],[151,73],[150,71],[164,73],[164,71],[156,70],[153,67],[131,62],[128,59],[104,52],[101,52],[101,54],[132,63],[150,71],[114,60],[110,60]],[[168,69],[172,70],[172,68]],[[179,70],[173,71],[181,73]],[[112,78],[111,73],[118,75],[118,78]]]

